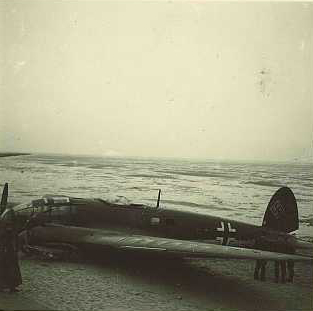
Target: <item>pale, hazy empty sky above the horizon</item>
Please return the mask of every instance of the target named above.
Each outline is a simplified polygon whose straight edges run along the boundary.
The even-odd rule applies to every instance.
[[[313,3],[0,3],[0,151],[312,154]]]

